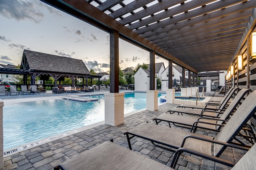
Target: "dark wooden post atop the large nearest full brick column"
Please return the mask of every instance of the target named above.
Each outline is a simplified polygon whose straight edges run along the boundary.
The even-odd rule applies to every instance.
[[[119,89],[119,33],[110,31],[110,93],[118,93]]]

